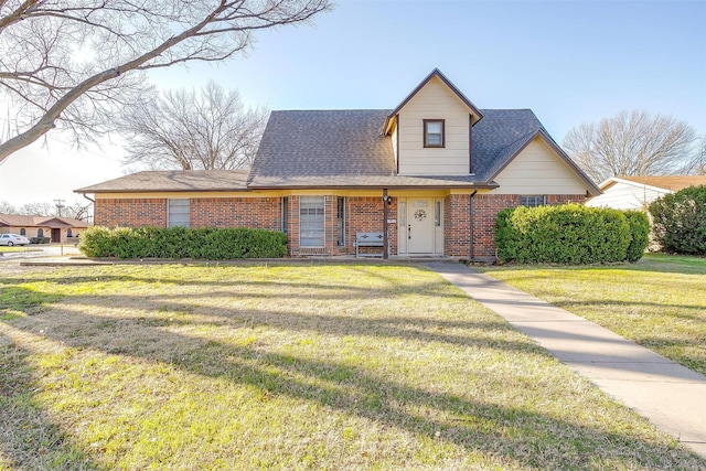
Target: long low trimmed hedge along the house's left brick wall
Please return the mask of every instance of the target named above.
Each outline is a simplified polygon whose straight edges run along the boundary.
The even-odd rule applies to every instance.
[[[89,227],[81,234],[78,248],[87,257],[279,258],[287,254],[287,235],[247,227]]]

